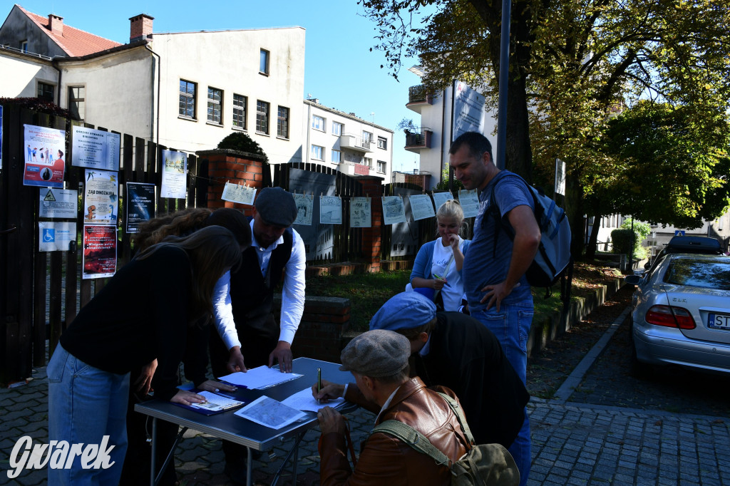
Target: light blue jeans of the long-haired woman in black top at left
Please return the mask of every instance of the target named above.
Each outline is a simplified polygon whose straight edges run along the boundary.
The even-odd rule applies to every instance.
[[[110,436],[107,469],[83,469],[79,456],[70,469],[50,468],[49,485],[116,485],[127,450],[126,413],[129,374],[101,371],[58,344],[47,367],[48,439],[72,444],[101,444]]]

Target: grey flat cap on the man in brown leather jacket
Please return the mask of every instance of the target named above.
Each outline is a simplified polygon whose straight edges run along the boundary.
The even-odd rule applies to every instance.
[[[340,371],[354,371],[366,377],[389,377],[408,365],[410,341],[393,331],[375,329],[350,341],[339,358]]]

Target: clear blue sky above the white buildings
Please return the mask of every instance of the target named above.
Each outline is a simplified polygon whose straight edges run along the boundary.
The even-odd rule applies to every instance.
[[[383,53],[369,49],[375,43],[374,23],[364,18],[356,0],[250,1],[250,0],[24,0],[21,7],[46,17],[64,18],[66,25],[115,42],[129,41],[129,18],[145,13],[155,18],[155,32],[217,31],[238,28],[301,26],[307,29],[304,93],[321,104],[354,112],[364,120],[390,128],[393,134],[393,170],[418,169],[418,155],[403,149],[405,137],[396,126],[404,117],[418,126],[418,113],[405,107],[408,88],[419,78],[404,62],[400,82],[380,69]],[[6,4],[4,20],[12,3]]]

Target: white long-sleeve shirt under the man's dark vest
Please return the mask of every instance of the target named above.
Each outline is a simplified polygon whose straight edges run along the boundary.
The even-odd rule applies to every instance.
[[[267,248],[261,248],[253,236],[253,220],[250,222],[252,242],[251,246],[256,248],[258,264],[261,275],[266,275],[269,268],[272,251],[284,242],[284,236],[280,236],[276,242]],[[294,340],[296,329],[299,328],[301,315],[304,313],[304,269],[307,267],[307,253],[304,251],[304,242],[296,230],[292,229],[291,257],[285,265],[283,292],[281,296],[281,317],[279,340],[291,344]],[[218,329],[220,338],[226,344],[226,349],[240,346],[236,324],[233,318],[233,306],[231,305],[231,273],[226,272],[223,277],[215,282],[213,288],[213,310],[215,312],[215,327]]]

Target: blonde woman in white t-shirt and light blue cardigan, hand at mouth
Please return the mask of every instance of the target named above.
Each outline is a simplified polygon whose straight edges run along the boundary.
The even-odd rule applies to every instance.
[[[414,290],[430,289],[429,297],[441,294],[444,310],[457,311],[461,306],[464,285],[461,281],[461,266],[469,240],[459,236],[464,226],[464,212],[458,201],[451,199],[436,212],[438,239],[420,247],[413,263],[410,283]],[[418,291],[418,290],[417,290]],[[437,298],[438,301],[438,298]]]

